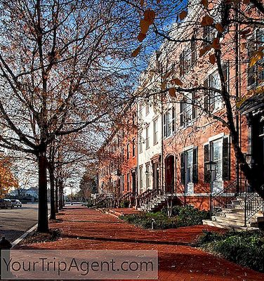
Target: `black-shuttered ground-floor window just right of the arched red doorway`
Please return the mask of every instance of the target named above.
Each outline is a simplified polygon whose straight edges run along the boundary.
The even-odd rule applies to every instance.
[[[198,182],[198,148],[180,154],[180,178],[184,185]]]

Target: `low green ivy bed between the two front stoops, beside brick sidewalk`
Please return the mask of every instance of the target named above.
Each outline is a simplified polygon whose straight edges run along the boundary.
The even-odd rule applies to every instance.
[[[207,211],[199,211],[192,206],[173,207],[173,216],[169,218],[166,208],[156,213],[140,213],[124,216],[124,221],[133,223],[142,228],[152,228],[154,219],[154,229],[179,228],[180,226],[193,226],[202,224],[202,220],[209,217]]]

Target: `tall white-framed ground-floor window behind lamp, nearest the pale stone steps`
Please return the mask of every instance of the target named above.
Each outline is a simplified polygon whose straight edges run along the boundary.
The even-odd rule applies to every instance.
[[[212,192],[223,190],[223,138],[211,142],[211,160],[216,163],[216,171],[213,171]]]

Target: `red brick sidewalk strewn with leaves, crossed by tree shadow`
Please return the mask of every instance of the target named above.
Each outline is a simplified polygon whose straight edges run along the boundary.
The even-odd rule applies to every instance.
[[[62,237],[55,242],[22,245],[24,249],[157,249],[159,280],[263,280],[264,274],[185,246],[193,242],[205,226],[173,230],[142,230],[119,218],[85,207],[67,207],[52,223]],[[139,241],[139,242],[136,242]],[[168,243],[168,244],[167,244]],[[177,245],[183,244],[183,245]]]

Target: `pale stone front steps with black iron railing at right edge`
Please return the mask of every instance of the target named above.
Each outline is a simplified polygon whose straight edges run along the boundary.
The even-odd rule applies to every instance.
[[[211,220],[203,220],[207,226],[216,226],[229,230],[258,230],[258,223],[263,221],[263,211],[258,211],[244,223],[244,196],[239,196],[227,204],[227,208],[218,210]]]

